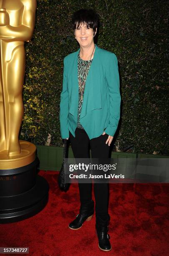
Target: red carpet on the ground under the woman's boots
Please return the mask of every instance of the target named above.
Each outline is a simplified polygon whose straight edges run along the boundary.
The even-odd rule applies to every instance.
[[[48,204],[27,220],[0,224],[0,247],[29,247],[31,256],[169,255],[169,184],[110,184],[112,250],[102,252],[95,215],[79,230],[68,228],[80,207],[78,184],[61,192],[57,174],[39,172],[50,185]]]

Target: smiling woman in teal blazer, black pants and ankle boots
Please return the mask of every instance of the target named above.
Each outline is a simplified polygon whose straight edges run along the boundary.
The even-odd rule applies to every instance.
[[[92,158],[108,159],[120,118],[118,61],[114,53],[94,44],[98,16],[93,10],[78,10],[73,14],[72,24],[80,48],[64,58],[61,138],[70,138],[75,158],[90,158],[90,145]],[[73,230],[81,228],[84,221],[93,216],[91,185],[78,183],[81,207],[68,225]],[[108,183],[94,183],[94,195],[98,246],[110,251]]]

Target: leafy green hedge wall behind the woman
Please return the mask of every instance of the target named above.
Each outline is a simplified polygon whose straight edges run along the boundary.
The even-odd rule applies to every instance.
[[[93,8],[100,18],[96,44],[116,54],[121,79],[121,119],[115,144],[138,152],[168,154],[166,1],[38,0],[34,36],[25,43],[25,114],[20,139],[61,146],[59,123],[63,58],[79,46],[71,15]],[[97,38],[96,38],[97,39]]]

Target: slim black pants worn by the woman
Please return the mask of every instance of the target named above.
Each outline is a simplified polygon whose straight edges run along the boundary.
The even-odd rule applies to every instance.
[[[91,158],[108,159],[110,146],[106,144],[108,134],[97,138],[88,138],[85,130],[76,128],[75,137],[69,132],[72,151],[75,158],[90,158],[89,146],[91,147]],[[78,183],[81,204],[92,199],[92,183]],[[96,202],[96,216],[107,219],[108,216],[108,183],[94,183],[94,196]]]

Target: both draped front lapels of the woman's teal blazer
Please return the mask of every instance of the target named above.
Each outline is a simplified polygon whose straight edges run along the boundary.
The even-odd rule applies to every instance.
[[[72,90],[71,101],[69,105],[69,113],[77,118],[78,115],[78,51],[73,59],[72,70]],[[83,118],[88,112],[94,109],[101,108],[101,77],[100,77],[100,60],[99,60],[99,47],[95,44],[95,53],[88,71],[86,84],[83,94],[83,104],[81,108],[80,119]]]

